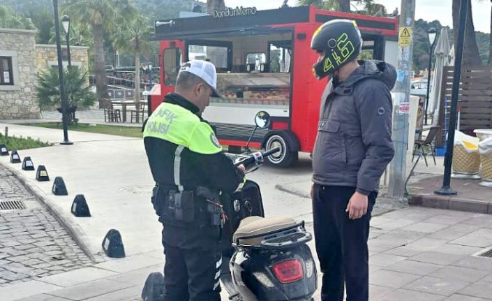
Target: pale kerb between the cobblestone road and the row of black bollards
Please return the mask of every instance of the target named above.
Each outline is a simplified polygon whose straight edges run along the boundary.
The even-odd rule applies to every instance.
[[[65,230],[68,232],[68,235],[70,235],[73,240],[75,240],[80,249],[84,251],[87,257],[89,257],[89,259],[93,263],[101,263],[105,261],[102,256],[97,256],[91,253],[89,247],[87,247],[89,246],[90,241],[86,237],[82,229],[77,225],[77,223],[67,219],[61,212],[61,209],[59,209],[59,205],[49,200],[44,191],[36,186],[32,186],[31,184],[29,184],[26,177],[24,177],[24,175],[22,175],[19,170],[15,170],[14,168],[8,166],[8,164],[0,164],[13,172],[13,175],[17,177],[17,179],[19,179],[19,181],[26,187],[26,189],[29,190],[29,192],[33,193],[33,195],[36,196],[36,198],[38,198],[38,200],[40,200],[41,203],[43,203],[47,207],[47,210],[49,210],[50,213],[53,214],[54,218],[57,219],[62,227],[65,228]]]

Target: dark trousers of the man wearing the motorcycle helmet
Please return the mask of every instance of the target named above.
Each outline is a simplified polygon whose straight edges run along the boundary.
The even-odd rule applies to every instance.
[[[369,220],[377,193],[368,196],[368,213],[349,219],[345,212],[354,187],[321,186],[313,189],[313,218],[316,252],[323,273],[321,300],[368,301]]]

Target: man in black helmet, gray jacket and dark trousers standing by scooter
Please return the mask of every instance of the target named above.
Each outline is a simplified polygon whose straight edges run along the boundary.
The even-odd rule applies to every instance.
[[[396,72],[382,61],[358,62],[357,24],[331,20],[315,31],[311,48],[322,94],[313,151],[313,217],[323,272],[322,301],[368,300],[369,219],[379,180],[394,155],[392,96]]]

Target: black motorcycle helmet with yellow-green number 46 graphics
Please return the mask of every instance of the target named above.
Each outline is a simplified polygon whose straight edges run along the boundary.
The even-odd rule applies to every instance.
[[[324,54],[313,66],[313,74],[320,80],[333,75],[341,66],[359,56],[361,33],[355,21],[331,20],[316,29],[311,39],[311,49]]]

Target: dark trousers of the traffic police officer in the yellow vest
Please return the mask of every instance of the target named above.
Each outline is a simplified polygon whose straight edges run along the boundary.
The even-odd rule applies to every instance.
[[[221,301],[221,252],[164,244],[164,301]]]

